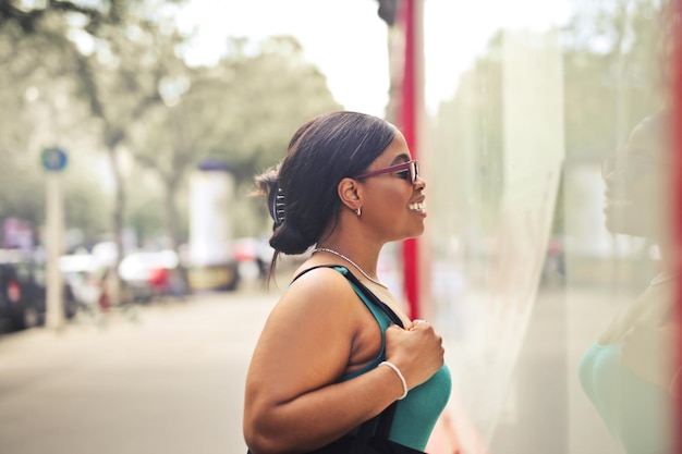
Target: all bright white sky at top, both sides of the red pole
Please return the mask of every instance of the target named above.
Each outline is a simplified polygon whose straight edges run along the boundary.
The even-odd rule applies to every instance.
[[[427,108],[452,96],[456,79],[502,26],[547,28],[569,12],[569,0],[425,0]],[[195,29],[191,63],[215,62],[228,36],[293,35],[327,75],[345,109],[383,115],[388,102],[387,26],[376,0],[191,0],[180,26]]]

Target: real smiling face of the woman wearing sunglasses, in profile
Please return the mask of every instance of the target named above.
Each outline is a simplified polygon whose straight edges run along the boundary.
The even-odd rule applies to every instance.
[[[405,138],[399,132],[393,142],[367,168],[367,171],[385,169],[412,160]],[[383,242],[418,236],[424,232],[426,183],[419,176],[413,184],[410,172],[381,173],[363,180],[364,200],[362,218],[372,232]]]

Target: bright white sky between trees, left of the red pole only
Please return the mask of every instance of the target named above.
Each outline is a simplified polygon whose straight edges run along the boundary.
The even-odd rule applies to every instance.
[[[388,102],[387,27],[375,0],[192,0],[180,26],[197,32],[190,63],[209,63],[227,36],[293,35],[327,75],[345,109],[383,115]]]

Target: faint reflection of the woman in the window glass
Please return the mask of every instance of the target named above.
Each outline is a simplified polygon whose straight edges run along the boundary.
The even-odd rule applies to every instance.
[[[580,364],[585,393],[611,435],[632,454],[679,452],[673,447],[672,409],[680,404],[674,357],[680,255],[669,230],[669,121],[665,112],[644,119],[623,154],[604,161],[607,229],[654,241],[660,271],[611,320]]]

